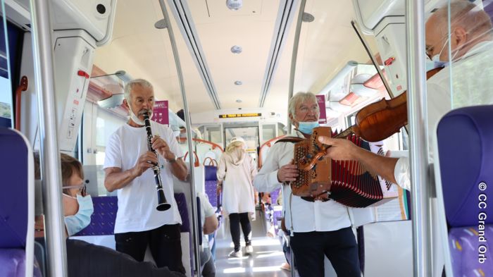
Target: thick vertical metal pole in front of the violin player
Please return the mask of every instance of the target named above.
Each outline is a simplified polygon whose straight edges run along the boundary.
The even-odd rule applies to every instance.
[[[431,275],[430,174],[426,130],[425,3],[406,1],[408,119],[413,189],[414,276]]]

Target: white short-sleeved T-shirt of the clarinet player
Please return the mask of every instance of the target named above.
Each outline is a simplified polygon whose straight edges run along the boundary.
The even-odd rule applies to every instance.
[[[173,136],[173,130],[151,121],[153,135],[159,135],[176,156],[183,156],[182,150]],[[135,128],[125,124],[113,133],[106,144],[104,168],[116,167],[127,171],[137,164],[142,154],[147,152],[147,135],[144,127]],[[161,165],[161,180],[164,195],[171,204],[167,211],[158,211],[158,195],[154,171],[149,168],[142,176],[132,180],[118,190],[118,212],[115,233],[141,232],[152,230],[165,224],[182,223],[173,196],[173,176],[171,165],[158,154]]]

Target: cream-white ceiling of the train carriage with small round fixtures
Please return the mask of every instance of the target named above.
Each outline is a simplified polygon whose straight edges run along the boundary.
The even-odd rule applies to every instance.
[[[279,1],[246,0],[239,11],[230,11],[223,0],[188,1],[222,109],[258,107]],[[351,27],[351,1],[308,0],[305,11],[315,20],[302,25],[294,92],[318,93],[347,61],[369,59]],[[168,99],[177,111],[183,104],[168,31],[154,27],[161,18],[157,0],[118,0],[113,39],[96,50],[94,64],[107,73],[125,70],[132,78],[146,78],[154,84],[156,97]],[[171,20],[190,112],[211,111],[214,106],[204,83]],[[293,39],[294,24],[266,99],[271,111],[285,111],[287,106]],[[235,44],[243,48],[242,54],[230,52]],[[370,45],[376,49],[373,40]],[[243,85],[234,85],[235,80]]]

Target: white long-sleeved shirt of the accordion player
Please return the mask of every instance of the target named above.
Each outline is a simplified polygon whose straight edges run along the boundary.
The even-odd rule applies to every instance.
[[[299,131],[294,137],[304,137]],[[289,164],[293,157],[294,143],[277,142],[270,148],[261,170],[254,179],[258,192],[272,192],[282,187],[282,202],[285,208],[286,228],[294,232],[331,231],[351,226],[347,207],[333,200],[327,202],[308,202],[292,195],[289,185],[282,185],[277,180],[277,171]],[[293,224],[291,223],[291,219]]]

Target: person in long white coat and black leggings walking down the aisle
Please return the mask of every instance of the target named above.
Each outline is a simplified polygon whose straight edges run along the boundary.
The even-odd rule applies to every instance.
[[[242,137],[233,137],[218,163],[218,193],[223,191],[223,211],[230,217],[230,232],[235,249],[230,257],[242,257],[239,244],[241,224],[245,239],[245,252],[251,254],[251,225],[249,213],[255,213],[254,186],[257,174],[254,159],[246,154],[246,143]]]

